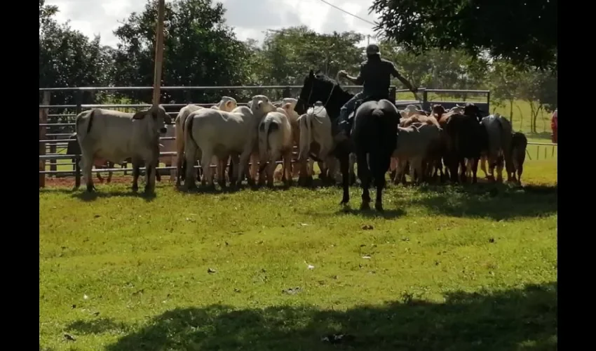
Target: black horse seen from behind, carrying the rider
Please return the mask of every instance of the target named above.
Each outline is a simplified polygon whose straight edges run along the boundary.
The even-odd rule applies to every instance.
[[[333,153],[339,159],[341,183],[344,188],[340,204],[345,205],[350,201],[348,161],[349,154],[353,151],[357,157],[358,178],[363,188],[363,202],[360,208],[370,208],[369,188],[372,178],[377,187],[375,208],[377,211],[383,211],[381,197],[386,185],[385,173],[389,169],[391,154],[395,150],[400,121],[400,114],[388,95],[387,91],[384,96],[370,96],[360,101],[355,107],[350,138],[336,143],[334,147]],[[332,133],[336,135],[339,132],[339,109],[352,97],[353,94],[344,91],[337,81],[319,72],[315,74],[311,69],[304,79],[304,86],[294,110],[304,114],[315,102],[323,102],[332,122]]]

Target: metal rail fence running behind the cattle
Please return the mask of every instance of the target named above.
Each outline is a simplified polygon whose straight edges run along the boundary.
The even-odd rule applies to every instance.
[[[273,90],[273,91],[282,91],[281,98],[290,98],[292,95],[292,91],[299,91],[302,86],[163,86],[161,87],[162,91],[214,91],[214,90],[227,90],[227,91],[265,91],[265,90]],[[343,88],[347,88],[348,90],[362,88],[361,86],[343,86]],[[77,114],[81,113],[83,110],[89,110],[92,108],[104,108],[104,109],[118,109],[118,110],[128,110],[126,112],[130,112],[130,110],[137,110],[141,108],[148,108],[151,105],[148,104],[86,104],[84,105],[83,102],[83,93],[85,92],[97,92],[97,91],[147,91],[151,90],[153,87],[151,86],[127,86],[127,87],[79,87],[79,88],[39,88],[40,93],[42,93],[41,104],[39,105],[39,181],[40,187],[45,185],[46,174],[54,175],[54,176],[72,176],[75,177],[76,185],[80,185],[81,183],[81,170],[79,169],[79,160],[81,155],[80,154],[65,154],[60,151],[65,150],[69,142],[72,142],[72,139],[69,139],[70,135],[74,133],[74,122],[55,122],[49,123],[48,118],[50,120],[57,120],[57,119],[74,119]],[[423,95],[423,100],[397,100],[397,105],[407,105],[410,103],[418,103],[421,104],[425,109],[428,109],[428,106],[431,103],[441,103],[442,105],[455,105],[456,102],[452,101],[432,101],[428,100],[429,93],[449,93],[449,94],[463,94],[466,96],[467,94],[470,95],[486,95],[487,102],[475,102],[482,108],[482,110],[489,111],[489,98],[490,98],[490,91],[472,91],[472,90],[452,90],[452,89],[420,89]],[[74,94],[75,104],[73,105],[50,105],[51,101],[51,94],[52,92],[72,92]],[[397,93],[405,92],[407,89],[396,89],[395,86],[391,87],[391,94],[393,96],[397,96]],[[279,94],[278,94],[279,95]],[[189,100],[189,99],[187,99]],[[191,101],[187,101],[187,103],[170,103],[170,104],[162,104],[166,110],[175,108],[176,110],[180,110],[180,108],[186,106]],[[208,102],[208,103],[196,103],[196,105],[201,105],[203,107],[210,107],[215,105],[217,102]],[[246,102],[238,102],[238,105],[246,105]],[[450,107],[450,105],[449,105]],[[50,113],[51,112],[53,113]],[[67,113],[65,113],[67,110]],[[62,113],[60,113],[62,112]],[[74,113],[73,113],[74,112]],[[170,115],[177,114],[176,112],[168,112]],[[68,129],[72,131],[67,132]],[[174,137],[161,137],[161,140],[173,140]],[[529,145],[549,145],[553,146],[552,154],[554,155],[554,146],[556,144],[546,144],[546,143],[529,143]],[[546,157],[546,147],[545,150],[545,157]],[[161,152],[160,156],[172,156],[175,155],[175,152]],[[295,150],[294,150],[295,154]],[[536,158],[539,157],[539,150],[536,153]],[[531,159],[531,156],[530,156]],[[58,163],[57,160],[73,160],[69,163]],[[46,161],[50,164],[50,170],[46,170]],[[72,166],[72,170],[58,170],[57,166]],[[211,165],[215,167],[215,165]],[[195,166],[196,167],[196,166]],[[162,169],[175,169],[175,166],[166,166],[166,167],[158,167],[158,170]],[[142,168],[144,169],[144,168]],[[130,168],[100,168],[94,169],[94,173],[99,172],[124,172],[125,174],[130,171]]]

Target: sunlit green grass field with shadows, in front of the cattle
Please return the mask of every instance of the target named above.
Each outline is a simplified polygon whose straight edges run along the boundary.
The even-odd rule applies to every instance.
[[[556,167],[391,186],[384,216],[334,187],[41,190],[40,350],[556,350]]]

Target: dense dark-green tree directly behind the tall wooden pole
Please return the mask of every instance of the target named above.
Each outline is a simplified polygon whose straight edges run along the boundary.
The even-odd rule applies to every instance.
[[[175,0],[165,4],[163,86],[234,86],[249,79],[250,51],[225,24],[225,9],[211,0]],[[152,86],[157,1],[132,13],[114,34],[117,86]],[[151,100],[151,91],[123,92],[134,100]],[[163,91],[162,100],[214,101],[233,91]]]

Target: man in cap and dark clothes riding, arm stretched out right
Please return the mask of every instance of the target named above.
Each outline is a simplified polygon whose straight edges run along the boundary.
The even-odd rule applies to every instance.
[[[366,47],[367,60],[360,64],[358,77],[351,77],[346,71],[339,71],[338,77],[345,77],[353,84],[363,85],[363,91],[354,95],[339,110],[339,136],[350,135],[351,123],[348,121],[349,114],[354,110],[357,100],[371,98],[373,96],[387,96],[391,85],[391,76],[399,79],[414,95],[418,89],[400,75],[393,62],[381,58],[381,52],[377,44],[370,44]]]

